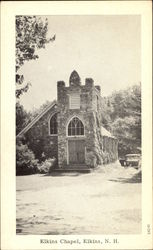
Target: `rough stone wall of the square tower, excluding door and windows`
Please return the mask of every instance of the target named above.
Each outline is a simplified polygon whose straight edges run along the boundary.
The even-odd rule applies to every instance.
[[[94,86],[91,78],[87,78],[85,85],[80,83],[65,86],[63,81],[57,83],[58,89],[58,163],[59,167],[68,164],[67,126],[73,116],[77,116],[85,127],[85,162],[89,163],[91,154],[96,164],[102,162],[102,141],[100,139],[101,124],[101,95],[100,87]],[[70,109],[71,94],[79,93],[80,109]],[[95,160],[96,159],[96,160]],[[90,161],[91,162],[91,161]]]

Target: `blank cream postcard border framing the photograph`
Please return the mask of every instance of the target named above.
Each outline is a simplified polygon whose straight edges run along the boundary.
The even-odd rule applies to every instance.
[[[152,228],[152,2],[151,1],[53,1],[53,2],[1,2],[1,249],[151,249],[152,234],[147,234],[147,224]],[[94,238],[117,238],[119,244],[104,246],[40,244],[44,236],[15,234],[15,15],[141,15],[142,20],[142,234],[94,235]],[[126,28],[126,27],[125,27]],[[76,239],[75,235],[64,236]],[[79,236],[82,239],[84,236]],[[92,236],[90,235],[90,238]],[[46,236],[45,238],[53,238]],[[55,235],[54,239],[59,239]]]

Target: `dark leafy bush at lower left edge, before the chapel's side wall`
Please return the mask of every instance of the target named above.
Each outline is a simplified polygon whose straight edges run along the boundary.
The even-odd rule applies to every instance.
[[[38,172],[38,160],[35,159],[34,153],[23,144],[21,140],[17,140],[16,145],[16,175],[28,175]]]

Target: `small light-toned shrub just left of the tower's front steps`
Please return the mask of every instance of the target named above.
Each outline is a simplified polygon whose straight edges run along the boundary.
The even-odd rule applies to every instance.
[[[53,158],[49,158],[46,159],[44,162],[41,163],[41,165],[39,165],[39,171],[40,173],[44,174],[44,173],[50,173],[51,170],[56,166],[56,159]]]

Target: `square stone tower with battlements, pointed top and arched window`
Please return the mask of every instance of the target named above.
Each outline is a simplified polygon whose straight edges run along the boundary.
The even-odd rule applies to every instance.
[[[88,165],[92,152],[101,150],[98,141],[100,87],[94,85],[92,78],[86,78],[85,83],[81,84],[81,78],[74,70],[69,78],[69,86],[59,81],[57,88],[59,167]]]

